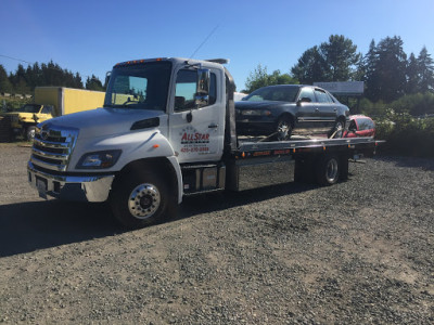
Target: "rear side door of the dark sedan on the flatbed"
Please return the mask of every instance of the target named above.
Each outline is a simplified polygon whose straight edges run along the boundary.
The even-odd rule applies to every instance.
[[[318,101],[316,112],[318,128],[322,131],[330,131],[336,121],[337,104],[322,89],[316,88],[315,95]]]

